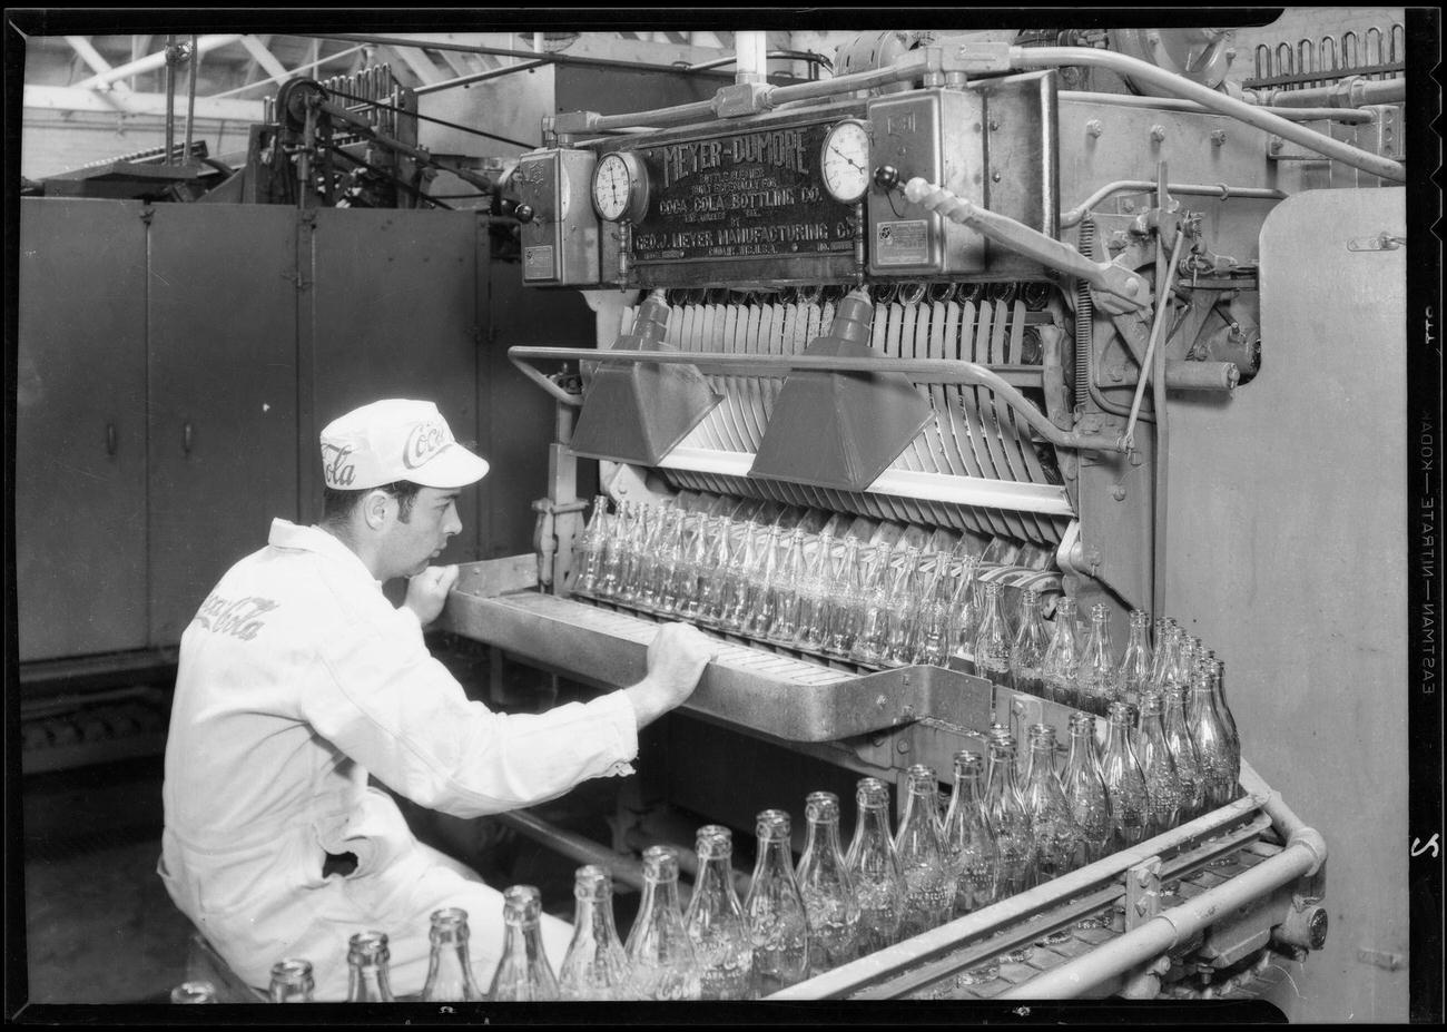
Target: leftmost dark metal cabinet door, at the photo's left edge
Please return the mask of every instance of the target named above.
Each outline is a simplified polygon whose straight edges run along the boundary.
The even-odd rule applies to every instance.
[[[140,648],[146,226],[139,201],[20,203],[20,661]]]

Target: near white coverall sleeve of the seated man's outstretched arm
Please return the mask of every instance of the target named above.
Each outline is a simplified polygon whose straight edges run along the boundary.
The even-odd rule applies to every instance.
[[[582,780],[632,773],[638,721],[624,692],[546,714],[472,702],[427,651],[411,612],[328,635],[302,716],[394,792],[454,816],[553,799]]]

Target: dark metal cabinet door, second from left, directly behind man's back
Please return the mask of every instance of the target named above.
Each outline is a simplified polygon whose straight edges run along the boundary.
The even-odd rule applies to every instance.
[[[179,641],[217,579],[297,518],[297,213],[162,204],[150,220],[149,619]]]

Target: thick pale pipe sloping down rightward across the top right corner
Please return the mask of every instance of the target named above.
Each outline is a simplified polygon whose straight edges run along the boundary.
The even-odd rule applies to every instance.
[[[1149,83],[1185,100],[1194,100],[1204,107],[1229,114],[1263,132],[1276,133],[1285,140],[1299,143],[1308,151],[1315,151],[1351,168],[1370,172],[1392,182],[1406,181],[1406,166],[1399,161],[1391,161],[1389,158],[1382,158],[1349,143],[1334,140],[1330,136],[1289,122],[1275,111],[1227,97],[1224,93],[1217,93],[1126,54],[1095,51],[1088,46],[1011,46],[1010,65],[1014,68],[1062,68],[1071,65],[1106,68],[1120,75]]]

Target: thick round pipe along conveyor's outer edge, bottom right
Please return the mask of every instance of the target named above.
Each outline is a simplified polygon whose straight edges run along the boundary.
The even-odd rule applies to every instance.
[[[1315,835],[1315,832],[1311,834]],[[1237,874],[1215,889],[1208,889],[1195,899],[1158,913],[1119,939],[1103,942],[1088,954],[1026,983],[1011,986],[996,999],[1075,999],[1103,981],[1120,977],[1156,960],[1178,942],[1185,942],[1197,932],[1210,928],[1221,915],[1231,913],[1237,908],[1310,874],[1318,864],[1317,850],[1304,839],[1295,839],[1275,857],[1263,860],[1249,871]]]

